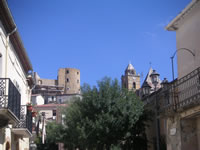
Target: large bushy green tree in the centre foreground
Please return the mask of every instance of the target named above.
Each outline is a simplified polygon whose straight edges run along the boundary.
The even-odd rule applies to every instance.
[[[64,112],[62,142],[69,150],[145,150],[143,112],[143,103],[134,92],[122,89],[118,80],[105,77],[93,88],[85,84],[82,100],[74,100]]]

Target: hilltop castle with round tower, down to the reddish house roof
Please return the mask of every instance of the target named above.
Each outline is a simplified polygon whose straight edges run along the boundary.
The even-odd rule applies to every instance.
[[[63,104],[74,97],[80,97],[80,70],[60,68],[56,80],[44,79],[35,72],[35,87],[32,91],[34,105],[49,103]]]

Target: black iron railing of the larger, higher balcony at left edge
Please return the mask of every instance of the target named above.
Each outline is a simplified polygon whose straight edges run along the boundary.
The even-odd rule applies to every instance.
[[[9,109],[20,119],[21,94],[9,78],[0,78],[0,109]]]

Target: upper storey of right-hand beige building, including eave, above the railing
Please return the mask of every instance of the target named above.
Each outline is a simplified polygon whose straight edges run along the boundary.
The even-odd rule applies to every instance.
[[[182,78],[200,66],[200,2],[192,2],[166,27],[176,32],[178,78]],[[194,55],[189,52],[188,49]],[[174,50],[175,51],[175,50]]]

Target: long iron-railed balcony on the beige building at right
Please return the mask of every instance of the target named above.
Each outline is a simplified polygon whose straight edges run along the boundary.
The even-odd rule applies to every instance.
[[[200,67],[167,85],[162,90],[163,111],[183,111],[200,104]],[[161,99],[162,100],[162,99]]]

